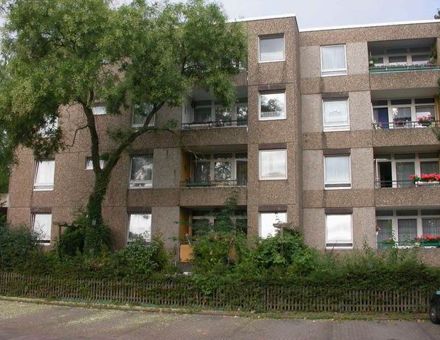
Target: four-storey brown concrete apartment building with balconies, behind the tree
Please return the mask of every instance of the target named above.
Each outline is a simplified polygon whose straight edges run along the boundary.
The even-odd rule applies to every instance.
[[[410,179],[439,173],[440,142],[429,126],[440,112],[432,53],[440,21],[298,30],[286,15],[244,25],[248,62],[235,79],[236,105],[223,108],[195,91],[186,106],[163,108],[154,119],[178,121],[176,134],[143,135],[114,169],[103,214],[115,248],[132,234],[160,234],[170,248],[180,246],[173,238],[215,223],[235,192],[236,225],[249,236],[269,237],[277,223],[300,229],[317,249],[440,236],[438,181]],[[78,110],[65,108],[59,122],[69,140]],[[111,116],[96,106],[99,132],[136,128],[136,112]],[[42,229],[51,244],[86,204],[89,157],[85,130],[50,159],[36,162],[19,150],[9,221]]]

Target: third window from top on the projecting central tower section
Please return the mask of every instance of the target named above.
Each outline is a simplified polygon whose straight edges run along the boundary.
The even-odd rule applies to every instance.
[[[260,180],[287,179],[287,152],[260,150]]]

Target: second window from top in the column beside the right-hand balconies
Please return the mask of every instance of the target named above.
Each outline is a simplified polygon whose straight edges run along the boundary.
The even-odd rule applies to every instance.
[[[350,130],[348,99],[322,101],[324,131]]]

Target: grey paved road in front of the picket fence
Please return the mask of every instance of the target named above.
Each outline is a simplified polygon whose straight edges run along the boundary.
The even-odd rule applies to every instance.
[[[0,339],[440,339],[430,322],[276,320],[0,301]]]

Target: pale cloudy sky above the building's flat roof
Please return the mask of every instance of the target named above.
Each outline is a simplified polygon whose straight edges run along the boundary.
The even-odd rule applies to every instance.
[[[81,0],[79,0],[81,1]],[[127,3],[130,0],[114,0]],[[382,2],[383,1],[383,2]],[[230,19],[295,13],[300,29],[434,18],[434,0],[219,0]],[[2,21],[0,18],[0,25]]]

